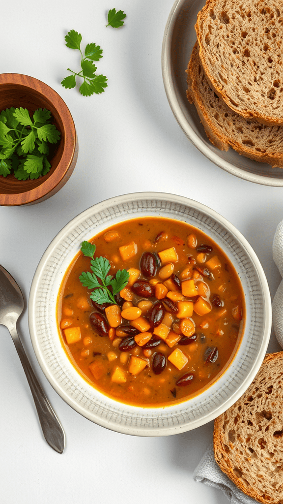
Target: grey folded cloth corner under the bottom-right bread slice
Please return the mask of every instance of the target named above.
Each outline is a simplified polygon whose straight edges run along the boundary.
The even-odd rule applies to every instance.
[[[193,473],[194,481],[214,486],[222,490],[231,504],[258,504],[258,501],[246,495],[222,472],[214,458],[213,445],[210,445]]]

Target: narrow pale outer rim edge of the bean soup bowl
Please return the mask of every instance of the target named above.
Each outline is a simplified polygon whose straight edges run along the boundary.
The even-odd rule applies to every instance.
[[[41,280],[41,275],[44,272],[44,268],[48,262],[49,257],[53,253],[53,251],[57,248],[58,244],[60,241],[63,239],[64,236],[67,236],[68,233],[72,232],[73,229],[75,229],[77,226],[80,226],[83,221],[86,219],[90,218],[91,215],[94,215],[95,213],[99,212],[105,212],[107,211],[108,208],[112,208],[113,206],[117,206],[119,204],[127,205],[127,204],[134,204],[136,201],[140,200],[156,200],[156,201],[165,201],[166,203],[171,203],[173,202],[174,204],[180,205],[180,206],[185,206],[185,207],[191,207],[192,209],[202,212],[205,215],[208,215],[212,219],[215,220],[216,223],[220,223],[224,228],[228,229],[229,232],[235,236],[236,240],[241,243],[242,248],[245,250],[245,253],[249,258],[251,258],[252,263],[255,267],[255,270],[257,272],[257,275],[260,280],[261,284],[261,294],[263,298],[263,306],[264,306],[264,325],[263,325],[263,330],[262,330],[262,340],[261,340],[261,345],[260,349],[257,353],[257,356],[254,359],[253,365],[251,366],[246,378],[243,380],[241,383],[240,387],[238,390],[225,401],[224,404],[218,406],[215,410],[211,411],[210,413],[206,413],[201,417],[200,419],[190,421],[189,423],[182,424],[182,425],[172,425],[172,426],[164,426],[158,425],[158,427],[143,427],[140,425],[129,425],[129,424],[121,424],[121,423],[116,423],[114,420],[112,420],[112,416],[110,415],[110,419],[104,419],[99,417],[99,415],[96,415],[96,418],[94,418],[93,412],[85,411],[83,408],[75,402],[75,400],[72,397],[69,397],[69,395],[63,390],[60,386],[60,384],[56,381],[54,378],[53,374],[50,372],[48,365],[45,362],[45,358],[43,355],[43,352],[40,348],[40,345],[38,344],[37,341],[37,334],[36,334],[36,323],[35,323],[35,301],[36,301],[36,294],[37,294],[37,288],[40,285],[40,280]],[[121,219],[125,220],[125,219]],[[109,225],[106,225],[106,227],[109,227]],[[93,236],[95,235],[95,231]],[[74,256],[76,253],[74,253]],[[57,292],[55,293],[55,296],[57,296]],[[31,335],[31,341],[32,345],[37,357],[37,360],[40,364],[40,367],[45,374],[47,380],[53,387],[53,389],[59,394],[59,396],[69,405],[71,406],[75,411],[78,413],[82,414],[89,420],[93,421],[94,423],[97,423],[98,425],[101,425],[103,427],[109,428],[111,430],[121,432],[121,433],[126,433],[126,434],[132,434],[132,435],[142,435],[142,436],[161,436],[161,435],[171,435],[171,434],[176,434],[180,432],[185,432],[188,430],[191,430],[193,428],[199,427],[210,420],[214,420],[217,416],[222,414],[224,411],[226,411],[232,404],[236,402],[237,399],[240,398],[240,396],[246,391],[246,389],[249,387],[251,382],[253,381],[256,373],[259,370],[259,367],[261,366],[261,363],[263,361],[263,358],[265,356],[266,350],[267,350],[267,345],[270,337],[270,331],[271,331],[271,299],[270,299],[270,294],[269,294],[269,288],[267,284],[267,280],[265,277],[265,274],[263,272],[262,266],[253,250],[251,245],[248,243],[248,241],[244,238],[244,236],[240,233],[240,231],[237,230],[227,219],[222,217],[220,214],[215,212],[214,210],[206,207],[205,205],[202,205],[201,203],[195,202],[194,200],[177,196],[177,195],[171,195],[167,193],[133,193],[133,194],[128,194],[128,195],[122,195],[118,196],[115,198],[110,198],[108,200],[105,200],[103,202],[97,203],[96,205],[88,208],[87,210],[83,211],[81,214],[79,214],[77,217],[72,219],[68,224],[66,224],[61,231],[55,236],[55,238],[51,241],[47,249],[45,250],[45,253],[43,254],[38,267],[36,269],[36,272],[34,274],[34,278],[32,281],[31,285],[31,290],[30,290],[30,296],[29,296],[29,307],[28,307],[28,321],[29,321],[29,329],[30,329],[30,335]],[[66,357],[67,359],[67,357]],[[231,367],[231,365],[229,366]],[[76,371],[77,372],[77,371]],[[116,407],[122,408],[124,405],[123,403],[119,403],[118,401],[114,401]],[[184,406],[185,403],[179,403],[177,405],[177,409],[180,406]],[[143,408],[139,408],[143,409]],[[155,411],[157,412],[158,410],[162,410],[163,408],[144,408],[143,410],[145,412],[147,411]],[[166,408],[164,408],[166,410]],[[117,415],[118,416],[118,415]],[[146,413],[144,415],[145,417],[147,416]],[[162,414],[160,415],[160,420],[162,423]]]

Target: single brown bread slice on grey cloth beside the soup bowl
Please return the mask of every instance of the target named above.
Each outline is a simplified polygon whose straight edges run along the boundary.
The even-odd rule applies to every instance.
[[[215,420],[216,462],[250,497],[283,502],[283,352],[268,354],[248,390]]]

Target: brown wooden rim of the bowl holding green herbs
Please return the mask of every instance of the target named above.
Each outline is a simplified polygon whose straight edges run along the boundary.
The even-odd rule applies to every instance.
[[[27,83],[26,85],[23,84],[23,81],[20,80],[20,77],[21,78],[27,77],[28,79],[31,79],[32,84],[30,82]],[[4,84],[4,83],[5,84],[17,84],[19,86],[34,89],[38,94],[40,94],[42,96],[45,96],[45,95],[41,92],[40,89],[38,89],[37,85],[40,88],[42,86],[45,87],[49,93],[48,100],[51,101],[53,105],[54,105],[54,103],[56,103],[56,105],[54,105],[54,106],[55,106],[55,108],[57,108],[58,114],[61,117],[61,112],[63,111],[63,113],[64,113],[64,115],[66,115],[67,121],[68,121],[67,123],[66,123],[66,121],[62,121],[63,129],[64,129],[64,137],[65,137],[65,146],[64,146],[63,153],[62,153],[62,157],[58,163],[58,166],[54,170],[54,172],[46,180],[44,180],[42,182],[42,184],[40,184],[42,194],[40,196],[38,196],[38,188],[35,187],[35,188],[31,189],[30,191],[27,191],[24,193],[17,193],[17,194],[9,195],[9,199],[12,201],[13,201],[13,197],[15,197],[15,200],[16,200],[18,195],[25,195],[25,200],[26,200],[25,202],[23,202],[23,203],[12,202],[12,203],[5,204],[5,206],[18,206],[18,205],[21,206],[21,205],[26,205],[29,203],[34,203],[38,199],[42,199],[42,198],[46,199],[46,196],[50,192],[52,192],[54,190],[54,188],[60,184],[60,182],[62,182],[63,178],[66,176],[66,173],[69,169],[69,166],[72,163],[72,161],[76,155],[76,151],[78,149],[76,136],[75,136],[75,138],[73,138],[72,135],[69,135],[69,131],[66,129],[66,127],[68,128],[69,125],[71,125],[74,128],[75,132],[76,132],[76,128],[75,128],[75,123],[74,123],[74,119],[72,117],[72,114],[70,113],[64,100],[61,98],[61,96],[54,89],[52,89],[50,86],[48,86],[48,84],[46,84],[45,82],[40,81],[39,79],[36,79],[35,77],[31,77],[31,76],[24,75],[24,74],[1,74],[1,78],[5,79],[5,82],[0,82],[0,86],[1,86],[1,84]],[[76,135],[76,133],[75,133],[75,135]],[[68,149],[68,147],[69,147],[69,149]],[[72,152],[71,156],[69,156],[69,155],[67,156],[68,150],[70,150],[70,152]],[[7,196],[7,195],[2,194],[2,193],[0,194],[0,198],[5,197],[5,196]]]

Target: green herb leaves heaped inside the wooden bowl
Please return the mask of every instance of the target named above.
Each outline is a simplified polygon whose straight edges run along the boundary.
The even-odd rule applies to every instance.
[[[51,112],[7,108],[0,113],[0,175],[14,173],[19,180],[38,178],[50,170],[48,144],[56,144],[60,132],[50,124]]]

